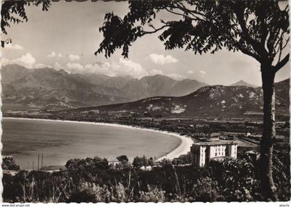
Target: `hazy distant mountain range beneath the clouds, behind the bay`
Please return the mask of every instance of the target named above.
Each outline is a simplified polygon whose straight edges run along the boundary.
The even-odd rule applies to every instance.
[[[1,69],[3,110],[62,110],[125,103],[156,96],[178,97],[205,83],[168,76],[111,77],[103,74],[69,74],[63,69],[27,69],[6,65]]]

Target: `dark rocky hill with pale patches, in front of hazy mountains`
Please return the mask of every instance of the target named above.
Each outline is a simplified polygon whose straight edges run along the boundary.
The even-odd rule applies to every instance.
[[[275,83],[276,112],[289,113],[289,79]],[[248,86],[205,86],[182,97],[150,97],[125,104],[80,108],[100,113],[128,112],[164,117],[239,116],[249,111],[261,113],[263,90]]]

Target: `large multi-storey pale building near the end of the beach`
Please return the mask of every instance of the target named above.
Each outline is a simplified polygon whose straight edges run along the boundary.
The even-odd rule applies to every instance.
[[[191,163],[203,167],[210,160],[237,157],[238,143],[233,141],[197,142],[191,147]]]

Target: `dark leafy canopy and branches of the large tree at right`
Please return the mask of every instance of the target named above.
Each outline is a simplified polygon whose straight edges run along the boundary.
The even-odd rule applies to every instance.
[[[259,63],[272,64],[279,70],[289,59],[281,60],[289,40],[289,8],[280,8],[278,1],[129,1],[130,12],[121,18],[105,15],[99,31],[103,33],[97,53],[109,57],[122,49],[127,58],[129,47],[143,35],[157,33],[166,49],[184,48],[195,53],[215,53],[227,48],[242,51]],[[166,11],[177,20],[153,26],[154,19]],[[265,47],[267,46],[267,47]]]

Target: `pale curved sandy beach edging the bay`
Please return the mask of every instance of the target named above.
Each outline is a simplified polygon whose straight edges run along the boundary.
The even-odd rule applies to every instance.
[[[37,121],[48,121],[48,122],[68,122],[68,123],[81,123],[81,124],[95,124],[99,126],[115,126],[115,127],[123,127],[127,129],[138,129],[141,131],[151,131],[155,133],[164,133],[167,135],[173,135],[181,140],[180,144],[175,147],[175,149],[172,149],[171,151],[168,151],[166,155],[159,156],[158,160],[162,160],[164,158],[172,160],[173,158],[177,158],[183,154],[187,154],[188,151],[190,151],[190,147],[194,143],[193,140],[189,137],[186,137],[184,135],[179,135],[178,133],[168,132],[168,131],[161,131],[157,129],[147,129],[137,126],[128,126],[125,124],[110,124],[105,122],[78,122],[78,121],[70,121],[70,120],[58,120],[58,119],[30,119],[30,118],[18,118],[18,117],[2,117],[2,119],[24,119],[24,120],[37,120]]]

